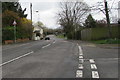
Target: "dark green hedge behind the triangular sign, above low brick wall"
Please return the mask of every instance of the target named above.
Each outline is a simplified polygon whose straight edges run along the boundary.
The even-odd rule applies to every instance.
[[[16,27],[16,39],[30,38],[31,34],[22,27]],[[6,26],[2,28],[2,42],[5,40],[14,40],[14,27]]]

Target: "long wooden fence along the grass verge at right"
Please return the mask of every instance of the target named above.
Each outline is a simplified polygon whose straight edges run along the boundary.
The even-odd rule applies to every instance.
[[[111,27],[112,38],[119,38],[119,27]],[[81,31],[81,40],[100,40],[108,38],[108,28],[89,28]]]

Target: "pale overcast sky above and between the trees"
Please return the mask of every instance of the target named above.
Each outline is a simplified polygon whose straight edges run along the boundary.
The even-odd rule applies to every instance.
[[[70,0],[69,0],[70,1]],[[74,1],[74,0],[71,0]],[[96,5],[97,2],[103,2],[104,0],[79,0],[86,2],[89,6]],[[107,0],[108,6],[112,6],[114,8],[118,7],[119,0]],[[30,3],[33,6],[33,22],[37,22],[38,20],[43,22],[43,24],[48,28],[57,28],[59,25],[57,24],[56,13],[59,10],[58,3],[60,0],[19,0],[22,8],[27,8],[26,14],[28,14],[27,18],[30,19]],[[114,2],[114,3],[113,3]],[[103,3],[102,3],[103,4]],[[104,4],[103,4],[104,5]],[[36,13],[36,10],[39,12]],[[91,12],[94,19],[100,20],[105,18],[105,15],[102,12]],[[112,16],[118,17],[118,11],[112,10]]]

